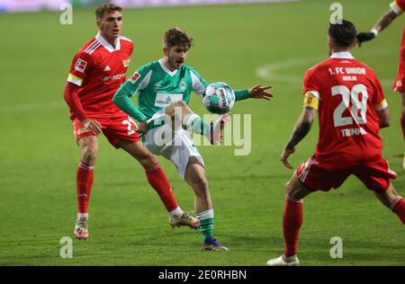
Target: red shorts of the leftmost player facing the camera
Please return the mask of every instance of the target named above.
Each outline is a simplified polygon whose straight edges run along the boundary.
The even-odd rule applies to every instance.
[[[112,118],[89,118],[92,120],[97,120],[102,125],[102,130],[104,136],[112,144],[112,146],[118,148],[118,142],[120,140],[126,140],[129,142],[138,142],[140,140],[138,132],[136,132],[137,125],[126,114],[118,114]],[[89,130],[83,128],[80,120],[73,120],[73,134],[75,134],[76,140],[78,141],[81,138],[86,136],[95,136],[98,135],[94,130]]]

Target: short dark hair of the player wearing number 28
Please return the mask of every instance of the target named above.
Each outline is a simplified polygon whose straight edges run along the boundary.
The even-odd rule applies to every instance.
[[[336,45],[348,48],[356,40],[356,27],[353,22],[342,20],[341,23],[330,23],[329,37],[332,38]]]

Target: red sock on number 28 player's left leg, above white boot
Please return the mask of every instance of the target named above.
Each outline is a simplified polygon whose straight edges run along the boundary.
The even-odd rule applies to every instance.
[[[297,253],[298,235],[302,226],[302,200],[293,200],[285,196],[285,207],[283,217],[283,233],[285,256],[292,256]]]

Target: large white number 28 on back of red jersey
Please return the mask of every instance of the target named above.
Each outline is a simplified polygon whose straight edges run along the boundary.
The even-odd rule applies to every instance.
[[[337,85],[332,87],[332,96],[340,94],[342,96],[342,102],[339,103],[336,110],[333,112],[333,121],[335,127],[347,126],[353,124],[354,120],[357,124],[365,124],[367,122],[367,88],[364,84],[356,84],[350,91],[346,85]],[[361,96],[360,96],[361,94]],[[343,116],[350,106],[350,116]]]

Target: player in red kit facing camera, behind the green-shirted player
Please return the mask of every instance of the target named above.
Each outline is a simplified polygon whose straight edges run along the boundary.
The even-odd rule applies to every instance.
[[[79,239],[86,239],[89,235],[88,201],[98,152],[97,138],[101,132],[112,146],[122,148],[144,167],[148,182],[169,212],[170,224],[197,228],[198,220],[178,206],[157,158],[140,142],[134,121],[112,103],[114,93],[126,80],[125,73],[133,50],[132,41],[120,35],[121,7],[102,4],[95,15],[100,32],[76,53],[64,94],[81,150],[76,173],[77,219],[74,234]]]

